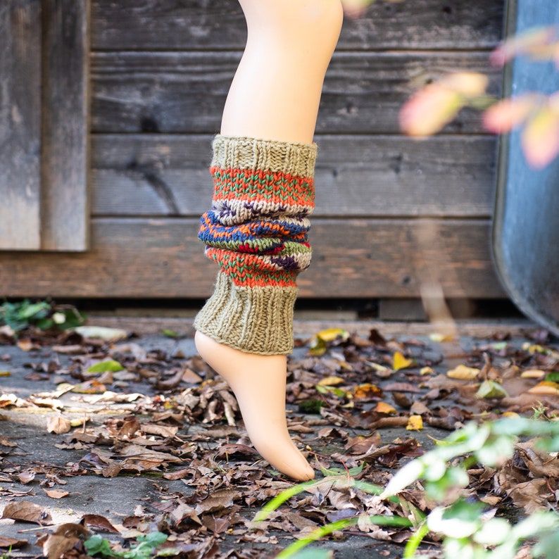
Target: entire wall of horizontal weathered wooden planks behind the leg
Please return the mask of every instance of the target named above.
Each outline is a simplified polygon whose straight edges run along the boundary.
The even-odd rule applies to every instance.
[[[498,298],[489,249],[496,141],[464,111],[415,142],[397,113],[451,70],[479,70],[504,0],[378,0],[346,20],[316,141],[313,266],[305,297]],[[208,296],[215,265],[196,241],[211,198],[210,144],[244,46],[234,0],[92,0],[92,249],[0,253],[6,294]]]

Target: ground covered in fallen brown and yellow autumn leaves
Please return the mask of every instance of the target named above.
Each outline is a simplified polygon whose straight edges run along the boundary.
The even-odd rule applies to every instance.
[[[256,527],[256,512],[293,484],[253,450],[234,397],[191,339],[0,332],[0,551],[80,557],[91,534],[126,550],[164,532],[172,555],[267,558],[327,522],[394,512],[325,482]],[[559,410],[559,352],[540,330],[434,341],[329,329],[297,345],[289,429],[318,478],[351,472],[384,485],[467,421]],[[558,459],[531,441],[498,470],[469,474],[466,494],[498,514],[557,504]],[[429,510],[421,486],[406,499]],[[363,520],[320,546],[395,559],[409,536]],[[437,542],[423,552],[439,556]]]

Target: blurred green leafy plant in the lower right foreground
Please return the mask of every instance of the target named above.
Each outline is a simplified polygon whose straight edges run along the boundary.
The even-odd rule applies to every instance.
[[[515,443],[520,437],[536,437],[539,448],[547,452],[559,451],[559,429],[555,421],[541,421],[524,417],[504,418],[482,425],[472,422],[439,441],[432,451],[411,460],[391,478],[386,488],[375,486],[351,477],[355,472],[327,476],[315,482],[306,482],[283,491],[260,510],[255,521],[265,520],[290,498],[320,484],[351,486],[396,503],[394,515],[368,516],[375,525],[413,527],[403,553],[413,559],[421,541],[429,532],[443,540],[444,556],[448,559],[510,559],[520,545],[535,540],[532,557],[553,557],[559,546],[559,515],[555,511],[540,510],[513,525],[487,510],[481,501],[460,496],[460,489],[469,483],[467,469],[472,465],[497,467],[513,456]],[[428,515],[408,503],[398,494],[407,486],[421,480],[425,495],[433,507]],[[448,504],[448,501],[453,501]],[[356,525],[363,516],[332,522],[304,539],[296,541],[277,555],[278,559],[303,559],[301,550],[308,544],[332,532]],[[322,555],[320,555],[322,553]],[[314,550],[308,558],[327,558],[328,551]]]

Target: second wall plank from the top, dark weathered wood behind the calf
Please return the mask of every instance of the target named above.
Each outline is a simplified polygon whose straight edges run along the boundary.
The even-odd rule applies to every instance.
[[[92,130],[96,133],[215,133],[240,54],[236,52],[95,53]],[[429,80],[455,70],[489,73],[498,93],[501,72],[485,53],[334,54],[326,74],[316,130],[395,134],[404,101]],[[445,132],[483,132],[465,110]]]

